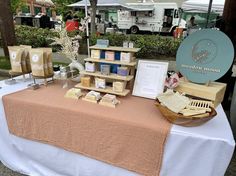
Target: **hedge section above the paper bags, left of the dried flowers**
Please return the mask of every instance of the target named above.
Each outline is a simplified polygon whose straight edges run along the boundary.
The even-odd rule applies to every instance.
[[[31,45],[33,48],[49,47],[53,37],[58,33],[49,29],[35,28],[30,26],[16,26],[16,38],[18,45]]]

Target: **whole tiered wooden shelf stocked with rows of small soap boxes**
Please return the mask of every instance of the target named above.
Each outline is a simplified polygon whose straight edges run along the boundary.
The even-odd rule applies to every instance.
[[[85,60],[81,83],[75,87],[126,96],[132,89],[139,48],[91,46],[91,58]]]

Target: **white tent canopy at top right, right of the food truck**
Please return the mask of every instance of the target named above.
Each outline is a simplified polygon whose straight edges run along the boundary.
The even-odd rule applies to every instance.
[[[212,11],[222,14],[224,10],[225,0],[213,0]],[[209,0],[189,0],[183,3],[183,10],[190,12],[207,12]]]

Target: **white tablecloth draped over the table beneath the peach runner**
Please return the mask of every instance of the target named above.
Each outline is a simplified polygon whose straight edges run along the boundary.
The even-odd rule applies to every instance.
[[[22,90],[28,83],[19,80],[15,85],[6,85],[1,81],[0,97]],[[173,125],[165,146],[161,176],[224,175],[235,141],[221,105],[217,113],[217,117],[199,127]],[[80,154],[9,134],[2,98],[0,160],[12,170],[31,176],[137,176]]]

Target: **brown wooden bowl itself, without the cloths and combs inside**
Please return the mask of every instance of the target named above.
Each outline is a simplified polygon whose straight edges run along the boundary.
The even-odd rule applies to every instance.
[[[162,106],[158,101],[156,103],[157,108],[160,110],[161,114],[171,123],[176,125],[181,125],[185,127],[193,127],[204,124],[205,122],[211,120],[216,116],[216,111],[211,108],[210,114],[202,116],[183,116],[169,110],[167,107]]]

